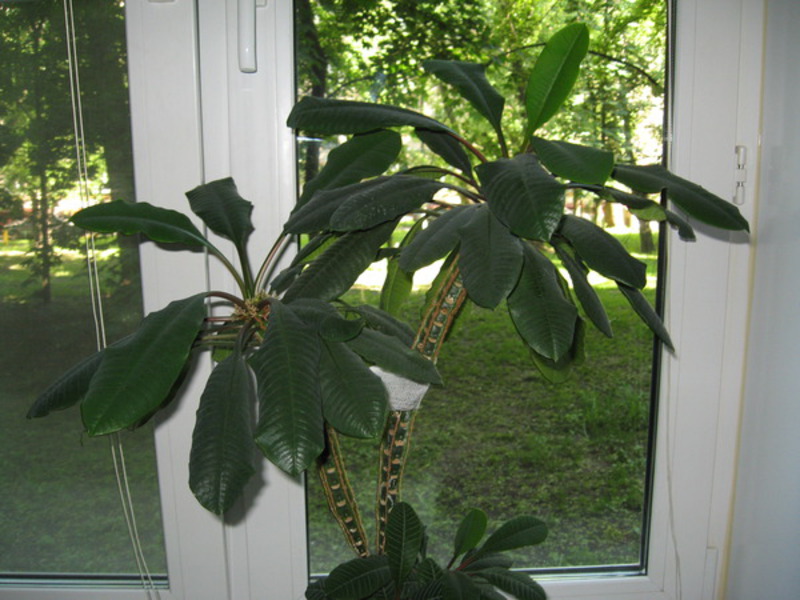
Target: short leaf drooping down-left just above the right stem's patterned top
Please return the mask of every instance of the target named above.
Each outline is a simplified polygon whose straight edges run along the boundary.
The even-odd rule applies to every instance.
[[[435,219],[400,252],[400,268],[410,273],[449,254],[458,244],[458,230],[468,223],[478,205],[456,206]]]

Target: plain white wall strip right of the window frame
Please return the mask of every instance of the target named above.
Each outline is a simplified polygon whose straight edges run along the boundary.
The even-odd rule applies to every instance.
[[[726,598],[800,598],[800,2],[770,0],[755,281]]]

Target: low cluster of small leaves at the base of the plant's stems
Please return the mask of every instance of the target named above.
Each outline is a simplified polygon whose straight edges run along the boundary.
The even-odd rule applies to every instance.
[[[542,587],[528,575],[511,570],[503,552],[542,543],[545,524],[530,516],[515,517],[486,534],[487,517],[471,510],[461,521],[450,562],[442,567],[427,556],[425,527],[414,509],[400,502],[386,530],[386,553],[357,558],[336,567],[311,584],[308,600],[499,600],[502,590],[518,600],[544,600]]]

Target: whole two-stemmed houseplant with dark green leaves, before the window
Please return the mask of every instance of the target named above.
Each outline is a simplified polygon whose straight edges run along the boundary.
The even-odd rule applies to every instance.
[[[456,533],[452,560],[439,565],[426,556],[424,528],[414,510],[398,497],[409,423],[427,387],[441,384],[435,361],[461,307],[506,306],[533,363],[554,376],[582,356],[583,315],[612,333],[587,279],[593,270],[613,280],[671,347],[641,292],[644,264],[602,228],[565,214],[565,193],[624,204],[676,227],[684,239],[693,237],[689,223],[646,195],[663,192],[713,227],[748,227],[734,206],[663,167],[619,165],[609,152],[536,135],[570,93],[588,44],[586,27],[570,25],[544,47],[527,84],[526,123],[516,153],[504,133],[505,100],[486,79],[484,65],[429,61],[425,68],[487,120],[496,156],[414,111],[301,100],[289,116],[291,127],[351,137],[306,185],[283,235],[258,268],[247,251],[252,205],[231,179],[201,185],[187,196],[194,215],[233,244],[238,266],[175,211],[111,202],[77,213],[73,223],[89,231],[142,234],[177,248],[206,249],[228,268],[239,293],[197,293],[151,313],[134,334],[55,382],[29,416],[79,404],[89,435],[136,427],[179,393],[191,356],[208,349],[216,367],[198,405],[192,491],[205,508],[224,513],[255,472],[255,448],[292,475],[318,470],[331,512],[359,558],[313,583],[308,598],[492,599],[502,597],[497,589],[520,599],[544,597],[501,554],[543,541],[541,521],[512,519],[481,543],[486,516],[472,511]],[[390,172],[403,143],[398,130],[413,131],[443,166]],[[388,244],[400,230],[402,241]],[[295,236],[305,236],[306,243],[288,268],[275,273],[276,256]],[[441,261],[416,331],[387,311],[342,299],[378,258],[388,258],[383,295],[390,310],[408,293],[413,272]],[[220,313],[220,305],[230,310]],[[380,436],[375,548],[366,540],[348,483],[340,435]]]

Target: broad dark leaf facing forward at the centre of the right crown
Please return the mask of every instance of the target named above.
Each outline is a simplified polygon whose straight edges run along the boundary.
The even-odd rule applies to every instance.
[[[489,208],[518,236],[547,241],[564,212],[564,186],[531,154],[476,167]]]

